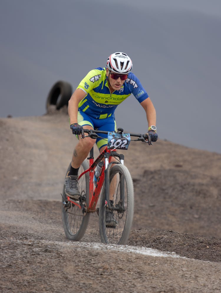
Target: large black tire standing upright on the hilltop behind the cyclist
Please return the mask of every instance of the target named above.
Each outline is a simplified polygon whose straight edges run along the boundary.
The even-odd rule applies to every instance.
[[[47,111],[50,105],[55,105],[56,109],[59,110],[65,105],[68,105],[68,101],[72,95],[72,86],[66,81],[57,81],[49,91],[46,102]]]

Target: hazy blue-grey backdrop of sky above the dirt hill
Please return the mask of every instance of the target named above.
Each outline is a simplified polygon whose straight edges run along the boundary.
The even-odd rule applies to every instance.
[[[124,51],[156,107],[159,137],[221,152],[220,0],[1,0],[0,27],[0,117],[44,114],[56,81],[75,89]],[[116,121],[147,128],[133,95]]]

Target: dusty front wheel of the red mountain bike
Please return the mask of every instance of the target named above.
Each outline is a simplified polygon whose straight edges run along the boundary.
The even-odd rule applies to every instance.
[[[100,240],[102,243],[126,244],[133,222],[134,189],[131,174],[124,165],[116,164],[110,169],[110,193],[112,194],[113,192],[111,192],[111,189],[113,184],[115,185],[113,206],[116,207],[117,204],[119,206],[120,200],[122,204],[122,199],[124,196],[123,203],[125,211],[118,212],[114,210],[113,217],[116,220],[114,227],[107,226],[108,223],[106,223],[106,212],[109,210],[105,206],[105,188],[103,188],[99,209]],[[122,191],[123,189],[124,191]]]

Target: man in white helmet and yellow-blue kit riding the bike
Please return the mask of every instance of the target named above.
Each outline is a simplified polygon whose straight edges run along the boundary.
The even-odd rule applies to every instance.
[[[132,61],[123,52],[111,54],[106,67],[91,70],[80,82],[68,102],[68,114],[72,133],[84,136],[83,128],[103,131],[116,130],[114,111],[132,93],[146,112],[148,121],[149,144],[157,141],[156,111],[139,79],[131,72]],[[105,138],[104,134],[101,134]],[[107,137],[107,136],[106,136]],[[96,139],[100,152],[106,139]],[[87,158],[95,139],[79,139],[71,162],[70,172],[65,179],[65,193],[72,199],[79,199],[77,187],[78,169]]]

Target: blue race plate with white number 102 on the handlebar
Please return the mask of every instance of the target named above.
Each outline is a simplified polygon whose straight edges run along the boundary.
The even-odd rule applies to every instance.
[[[128,149],[131,137],[129,133],[108,132],[108,149]]]

